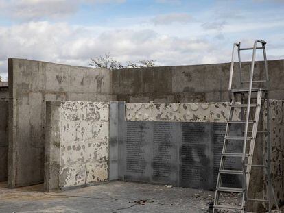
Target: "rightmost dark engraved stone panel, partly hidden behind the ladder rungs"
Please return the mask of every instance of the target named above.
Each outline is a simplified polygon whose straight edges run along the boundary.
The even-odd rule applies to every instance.
[[[214,183],[217,182],[217,175],[220,166],[220,159],[224,144],[224,136],[226,133],[226,123],[213,123],[213,155],[214,155]],[[230,136],[241,136],[241,125],[231,125]],[[227,145],[227,153],[241,153],[242,141],[229,140]],[[241,170],[241,158],[226,158],[225,169]],[[241,175],[222,175],[222,186],[241,187]]]

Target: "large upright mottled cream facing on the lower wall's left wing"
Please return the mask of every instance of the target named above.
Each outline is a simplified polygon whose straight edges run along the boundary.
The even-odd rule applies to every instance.
[[[62,103],[60,188],[108,179],[108,103]]]

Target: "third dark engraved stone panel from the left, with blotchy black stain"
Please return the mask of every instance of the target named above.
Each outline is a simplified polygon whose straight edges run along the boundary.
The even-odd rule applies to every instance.
[[[209,123],[182,123],[180,186],[212,188]]]

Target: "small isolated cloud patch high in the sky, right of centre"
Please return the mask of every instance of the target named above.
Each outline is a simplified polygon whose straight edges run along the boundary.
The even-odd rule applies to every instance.
[[[170,25],[171,23],[189,23],[193,21],[191,15],[187,13],[163,14],[152,18],[155,25]]]

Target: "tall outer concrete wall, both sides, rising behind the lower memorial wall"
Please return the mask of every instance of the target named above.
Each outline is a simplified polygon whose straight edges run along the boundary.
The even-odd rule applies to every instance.
[[[284,99],[284,60],[269,61],[268,67],[270,98]],[[250,64],[243,68],[248,71]],[[10,187],[43,181],[45,101],[228,101],[230,63],[108,71],[9,59],[8,69]],[[262,69],[257,62],[256,73]],[[7,99],[6,90],[0,97]]]

